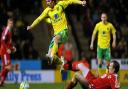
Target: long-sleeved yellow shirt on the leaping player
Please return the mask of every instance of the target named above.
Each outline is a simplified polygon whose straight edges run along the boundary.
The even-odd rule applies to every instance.
[[[59,1],[54,8],[47,7],[42,14],[32,23],[31,27],[36,26],[42,19],[50,18],[54,29],[54,35],[67,29],[67,20],[64,9],[70,4],[81,4],[79,0]]]

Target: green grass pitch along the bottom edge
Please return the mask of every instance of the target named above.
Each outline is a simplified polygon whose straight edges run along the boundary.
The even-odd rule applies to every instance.
[[[30,89],[65,89],[66,84],[30,84]],[[0,89],[19,89],[19,84],[6,84],[4,87],[0,87]],[[74,89],[81,89],[79,85],[77,85]],[[120,89],[128,89],[128,85],[122,85]]]

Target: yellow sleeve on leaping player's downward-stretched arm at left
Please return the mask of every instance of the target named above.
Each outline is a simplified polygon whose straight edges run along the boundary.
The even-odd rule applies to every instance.
[[[37,24],[40,23],[40,21],[42,21],[44,18],[46,18],[48,15],[48,11],[49,11],[49,8],[47,7],[43,12],[42,14],[32,23],[31,27],[35,27]]]

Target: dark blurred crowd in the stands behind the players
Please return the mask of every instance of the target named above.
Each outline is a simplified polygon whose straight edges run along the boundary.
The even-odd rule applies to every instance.
[[[119,0],[118,2],[117,0],[87,0],[86,7],[78,6],[80,8],[77,8],[72,5],[66,9],[66,13],[68,18],[69,16],[76,17],[76,24],[81,22],[84,37],[88,39],[88,45],[90,45],[91,34],[96,22],[99,21],[100,13],[102,11],[107,12],[109,20],[114,24],[117,30],[117,46],[115,49],[112,49],[112,57],[128,58],[127,5],[126,0]],[[8,17],[13,17],[16,23],[13,32],[13,43],[17,51],[12,54],[13,59],[39,58],[38,50],[35,50],[32,45],[34,40],[33,35],[25,28],[28,22],[25,20],[24,16],[27,14],[39,15],[41,9],[41,0],[0,0],[0,31],[2,32],[2,28],[6,25]],[[69,22],[72,23],[72,21],[74,20],[71,19]],[[78,39],[75,41],[79,44],[79,39],[81,38],[75,37],[75,34],[73,34],[73,36],[75,39]],[[81,48],[79,47],[79,49]],[[88,53],[88,51],[90,51],[89,48],[86,53]],[[83,51],[80,50],[80,54],[82,52]],[[96,54],[93,55],[92,53],[89,58],[94,57],[96,57]]]

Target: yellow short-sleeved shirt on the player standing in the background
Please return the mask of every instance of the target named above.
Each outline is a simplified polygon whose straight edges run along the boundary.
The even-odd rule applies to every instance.
[[[110,40],[111,40],[111,33],[115,35],[116,29],[114,26],[107,22],[106,24],[103,24],[102,22],[99,22],[96,24],[93,35],[96,35],[98,32],[98,46],[100,48],[109,48],[110,47]]]

